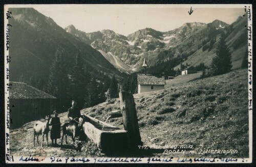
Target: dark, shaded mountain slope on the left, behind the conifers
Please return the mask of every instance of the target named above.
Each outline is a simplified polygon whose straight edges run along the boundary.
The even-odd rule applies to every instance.
[[[97,50],[81,41],[80,38],[67,33],[53,19],[33,8],[9,8],[12,18],[10,33],[10,64],[12,81],[23,75],[26,82],[32,76],[46,83],[49,70],[57,48],[63,50],[63,60],[68,73],[75,63],[75,55],[81,51],[81,57],[87,65],[109,73],[121,73]],[[19,38],[17,38],[19,37]]]

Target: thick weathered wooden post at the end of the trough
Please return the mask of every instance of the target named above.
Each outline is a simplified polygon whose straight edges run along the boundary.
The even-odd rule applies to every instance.
[[[133,95],[127,92],[119,92],[120,109],[123,117],[124,130],[127,131],[128,141],[131,148],[142,145],[137,112]]]

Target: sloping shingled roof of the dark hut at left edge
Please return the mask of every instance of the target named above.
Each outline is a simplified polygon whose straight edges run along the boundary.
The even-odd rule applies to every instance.
[[[22,82],[10,82],[10,84],[12,84],[10,99],[56,99],[56,97]]]

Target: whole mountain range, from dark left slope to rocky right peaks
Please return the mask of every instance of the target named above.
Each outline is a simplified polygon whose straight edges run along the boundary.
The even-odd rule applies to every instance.
[[[215,48],[221,33],[232,55],[233,68],[239,68],[247,49],[246,17],[240,16],[232,24],[221,20],[211,23],[184,23],[175,30],[160,32],[151,28],[138,30],[126,36],[112,30],[86,33],[74,25],[62,29],[53,19],[33,8],[11,8],[10,33],[11,77],[31,75],[47,80],[57,48],[63,50],[67,70],[74,66],[75,54],[80,50],[82,59],[93,68],[122,76],[141,70],[144,58],[149,66],[179,60],[188,65],[204,63],[209,66],[216,55]],[[203,47],[211,45],[211,49]]]

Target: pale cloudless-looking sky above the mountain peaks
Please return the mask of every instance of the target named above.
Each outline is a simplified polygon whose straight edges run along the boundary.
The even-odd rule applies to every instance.
[[[33,7],[38,12],[51,17],[63,28],[73,24],[78,30],[86,33],[110,29],[125,36],[146,27],[166,32],[176,29],[186,22],[209,23],[219,19],[231,24],[245,13],[244,5],[192,5],[194,12],[189,15],[190,6],[26,5],[26,7]]]

